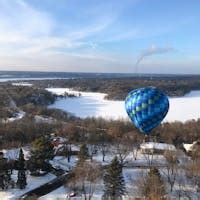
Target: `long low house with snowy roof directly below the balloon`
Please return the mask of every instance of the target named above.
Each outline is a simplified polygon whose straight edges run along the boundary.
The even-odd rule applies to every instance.
[[[176,147],[166,143],[145,142],[140,144],[140,150],[146,154],[163,154],[165,151],[176,151]]]

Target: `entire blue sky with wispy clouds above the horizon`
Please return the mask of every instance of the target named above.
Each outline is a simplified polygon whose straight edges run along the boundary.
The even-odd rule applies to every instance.
[[[0,0],[0,70],[200,74],[199,0]]]

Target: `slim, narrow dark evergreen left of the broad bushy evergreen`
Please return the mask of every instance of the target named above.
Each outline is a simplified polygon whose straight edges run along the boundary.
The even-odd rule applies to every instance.
[[[25,159],[24,159],[24,153],[22,149],[20,149],[20,152],[19,152],[17,167],[18,167],[17,186],[20,189],[24,189],[27,183],[26,183]]]

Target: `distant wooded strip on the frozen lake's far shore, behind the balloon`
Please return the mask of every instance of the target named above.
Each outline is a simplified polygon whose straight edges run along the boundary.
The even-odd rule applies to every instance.
[[[200,89],[199,76],[166,77],[122,77],[122,78],[80,78],[32,81],[40,87],[69,87],[75,90],[107,93],[108,99],[124,100],[133,89],[155,86],[168,96],[183,96],[191,90]]]

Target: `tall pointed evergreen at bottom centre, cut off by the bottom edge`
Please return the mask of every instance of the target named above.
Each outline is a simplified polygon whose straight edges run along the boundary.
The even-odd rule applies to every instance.
[[[104,175],[104,200],[122,199],[125,194],[125,182],[122,175],[122,165],[115,157]]]

